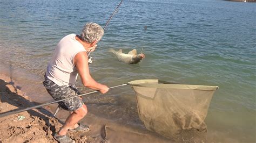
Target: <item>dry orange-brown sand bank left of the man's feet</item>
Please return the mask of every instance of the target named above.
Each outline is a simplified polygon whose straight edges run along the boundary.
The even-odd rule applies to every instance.
[[[5,75],[0,75],[0,112],[35,105]],[[35,109],[0,118],[0,142],[56,142],[52,138],[57,119],[46,115],[45,109]]]

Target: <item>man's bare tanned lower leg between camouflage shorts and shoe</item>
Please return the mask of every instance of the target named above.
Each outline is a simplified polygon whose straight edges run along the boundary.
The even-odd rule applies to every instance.
[[[73,129],[78,126],[78,121],[83,119],[87,113],[86,105],[83,105],[81,108],[73,111],[71,115],[66,119],[65,124],[57,132],[58,135],[65,135],[69,129]]]

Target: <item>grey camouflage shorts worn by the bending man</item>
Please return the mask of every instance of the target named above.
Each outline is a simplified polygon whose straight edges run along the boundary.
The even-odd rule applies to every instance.
[[[54,82],[52,82],[51,80],[49,80],[49,78],[47,78],[46,76],[45,76],[43,84],[44,84],[44,87],[46,88],[46,90],[48,91],[48,93],[56,101],[60,100],[60,99],[73,97],[73,96],[80,94],[80,92],[76,88],[75,84],[71,85],[70,87],[66,87],[65,85],[59,86],[59,85],[55,84]],[[71,98],[71,99],[68,99],[65,101],[58,102],[58,104],[65,110],[75,111],[75,110],[81,108],[84,103],[82,102],[82,99],[80,99],[79,97],[75,97],[75,98]]]

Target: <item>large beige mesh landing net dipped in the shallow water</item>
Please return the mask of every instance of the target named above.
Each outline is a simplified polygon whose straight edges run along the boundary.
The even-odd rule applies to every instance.
[[[137,97],[138,113],[148,130],[167,138],[183,130],[207,131],[207,115],[215,86],[161,84],[158,80],[129,82]]]

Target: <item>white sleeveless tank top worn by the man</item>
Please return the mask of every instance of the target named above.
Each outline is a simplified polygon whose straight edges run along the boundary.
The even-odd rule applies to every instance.
[[[69,34],[62,38],[47,66],[46,76],[59,86],[70,86],[77,80],[78,71],[73,59],[77,53],[86,52],[86,50],[75,38],[76,34]]]

